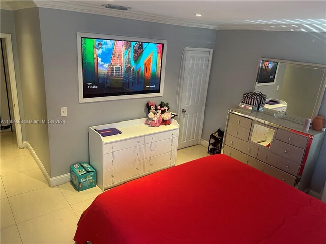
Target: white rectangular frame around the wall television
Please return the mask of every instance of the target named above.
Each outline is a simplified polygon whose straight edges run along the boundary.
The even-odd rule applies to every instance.
[[[84,98],[84,96],[83,96],[82,37],[95,38],[95,39],[121,40],[121,41],[162,43],[164,45],[164,48],[163,48],[163,52],[162,52],[161,82],[160,82],[159,93],[145,93],[145,94],[132,94],[132,95],[117,95],[117,96],[105,96],[105,97],[96,97],[96,98]],[[167,45],[168,45],[167,40],[158,40],[158,39],[150,39],[150,38],[125,37],[125,36],[115,36],[115,35],[106,35],[106,34],[77,32],[79,103],[110,101],[110,100],[122,100],[122,99],[133,99],[133,98],[161,97],[161,96],[163,96],[165,63],[166,63],[166,56],[167,56]]]

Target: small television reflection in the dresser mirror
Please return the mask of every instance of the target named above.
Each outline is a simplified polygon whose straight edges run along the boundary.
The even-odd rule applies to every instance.
[[[257,84],[274,84],[278,63],[279,62],[274,62],[270,60],[260,60],[257,75]]]

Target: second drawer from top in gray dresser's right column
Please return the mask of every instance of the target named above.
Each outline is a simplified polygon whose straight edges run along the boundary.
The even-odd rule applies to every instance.
[[[305,151],[302,148],[292,146],[279,140],[274,140],[270,148],[273,153],[276,153],[282,157],[285,157],[298,163],[301,163]]]

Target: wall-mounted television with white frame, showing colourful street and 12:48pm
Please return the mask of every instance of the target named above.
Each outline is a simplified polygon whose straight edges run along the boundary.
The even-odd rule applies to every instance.
[[[163,95],[167,41],[77,32],[79,102]]]

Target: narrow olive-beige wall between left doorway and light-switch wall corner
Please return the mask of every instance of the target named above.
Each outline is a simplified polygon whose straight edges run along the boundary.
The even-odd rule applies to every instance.
[[[46,120],[45,83],[38,8],[14,12],[24,119]],[[24,124],[26,141],[51,174],[47,124]]]

